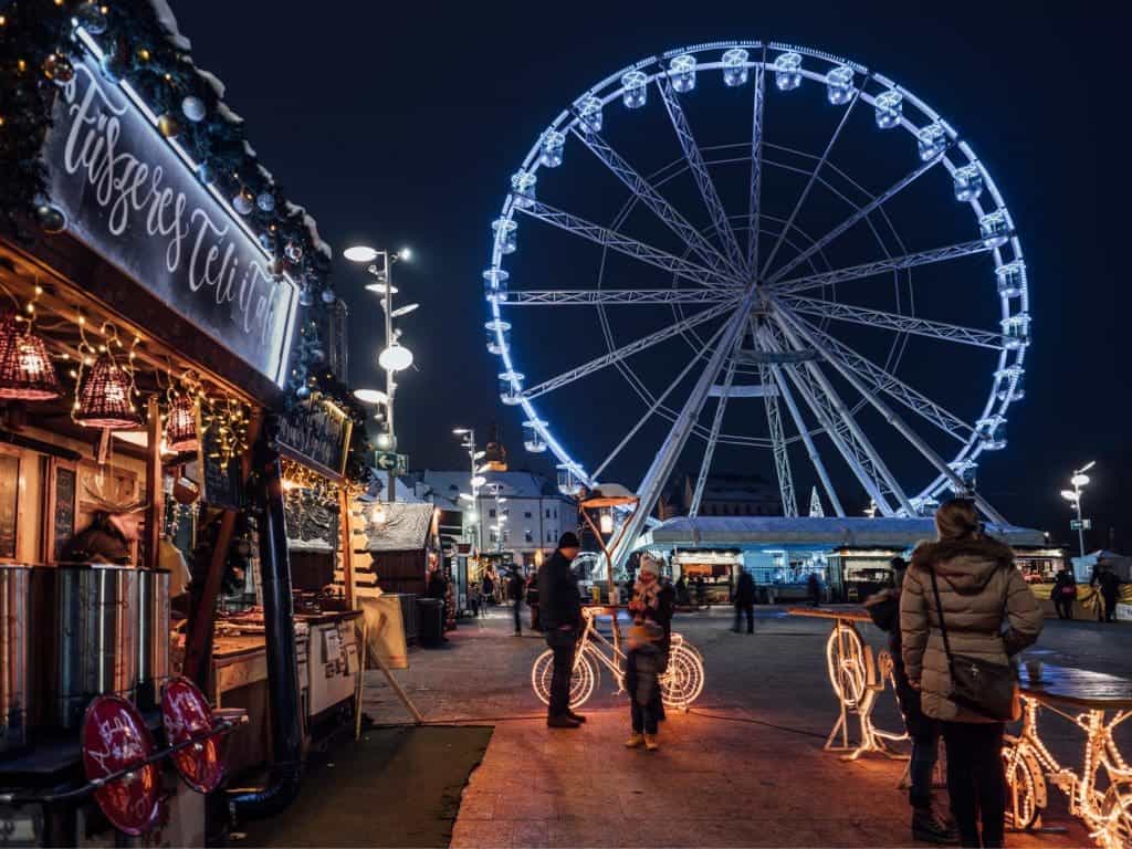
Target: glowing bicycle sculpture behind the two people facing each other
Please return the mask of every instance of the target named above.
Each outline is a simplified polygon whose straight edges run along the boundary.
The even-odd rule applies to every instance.
[[[569,706],[585,704],[601,678],[601,667],[606,667],[617,683],[617,692],[625,692],[625,674],[621,664],[620,631],[617,626],[617,607],[588,607],[582,609],[585,627],[574,654],[574,674],[569,685]],[[597,617],[611,616],[612,641],[598,631]],[[534,660],[531,667],[531,686],[543,704],[550,704],[550,679],[554,677],[554,652],[549,649]],[[703,658],[694,645],[672,634],[668,653],[668,669],[660,676],[660,697],[666,707],[686,711],[704,688]]]

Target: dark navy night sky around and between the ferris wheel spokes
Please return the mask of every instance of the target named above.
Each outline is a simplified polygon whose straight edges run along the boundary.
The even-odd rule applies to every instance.
[[[486,435],[499,422],[513,468],[550,469],[549,461],[524,456],[521,414],[497,400],[498,361],[483,346],[480,272],[487,265],[488,225],[509,175],[538,134],[585,88],[650,54],[728,38],[826,50],[901,83],[975,146],[1019,224],[1029,266],[1035,341],[1027,354],[1027,397],[1011,408],[1007,449],[983,455],[980,490],[1011,521],[1069,541],[1070,511],[1057,491],[1074,465],[1096,460],[1086,500],[1097,529],[1090,548],[1107,544],[1113,528],[1116,544],[1126,549],[1132,543],[1132,452],[1124,434],[1132,411],[1123,372],[1130,303],[1124,264],[1117,261],[1126,251],[1124,234],[1117,233],[1127,217],[1127,145],[1117,129],[1126,101],[1121,84],[1126,59],[1116,43],[1125,26],[1107,19],[1099,5],[1094,8],[1096,14],[1082,3],[1058,5],[1055,11],[1039,3],[812,0],[295,3],[282,11],[275,5],[173,2],[197,63],[224,80],[225,100],[247,119],[261,162],[317,218],[335,254],[355,241],[413,248],[413,263],[398,265],[395,277],[402,302],[422,305],[402,323],[404,342],[420,367],[404,376],[397,408],[401,448],[413,468],[462,464],[465,457],[451,429],[474,426]],[[720,84],[713,78],[709,85],[704,75],[701,88],[709,87]],[[747,92],[745,97],[749,85]],[[704,95],[704,103],[721,96]],[[772,118],[769,111],[769,127]],[[821,120],[824,125],[812,129],[821,134],[824,126],[827,137],[835,114]],[[710,123],[704,127],[705,135],[714,131]],[[636,134],[645,134],[648,142],[653,129],[664,128],[641,125]],[[767,130],[771,140],[774,131]],[[671,144],[670,128],[668,136],[664,143]],[[806,147],[820,153],[823,136],[813,138]],[[741,138],[732,135],[730,140]],[[638,149],[648,157],[648,147]],[[580,146],[568,147],[560,171],[586,156],[592,160]],[[880,168],[886,157],[878,147],[847,142],[833,162],[856,175],[858,163],[866,170]],[[912,164],[908,160],[898,173]],[[564,199],[576,201],[573,211],[608,222],[624,191],[608,174],[576,168],[566,181],[555,172],[557,200],[563,206]],[[592,183],[584,182],[590,179]],[[542,188],[540,178],[540,198],[556,203],[549,186],[546,196]],[[789,195],[790,187],[781,190]],[[935,226],[933,203],[909,198],[893,211],[895,226],[909,235],[912,249],[960,240],[950,238],[957,232],[952,224],[940,224],[943,230],[934,235],[925,226],[924,221]],[[953,218],[955,212],[947,215]],[[531,264],[541,261],[539,273],[548,281],[526,288],[566,285],[576,274],[592,280],[589,258],[566,258],[571,242],[522,241],[534,226],[521,230],[520,256],[526,250],[522,261]],[[835,265],[852,261],[863,260],[843,257]],[[959,280],[961,272],[955,278],[929,278],[928,317],[992,328],[996,298],[986,267],[978,289]],[[377,386],[379,311],[366,306],[372,295],[362,291],[365,283],[355,266],[336,259],[335,285],[352,310],[352,383]],[[586,285],[591,283],[574,288]],[[925,284],[917,280],[917,285]],[[547,377],[604,350],[593,311],[585,309],[523,314],[530,323],[516,333],[520,363]],[[654,326],[661,325],[618,331],[617,337],[628,341]],[[576,355],[563,359],[564,352]],[[911,346],[898,374],[972,420],[993,370],[986,359],[981,362],[968,366]],[[620,378],[602,379],[604,384],[580,384],[568,397],[555,396],[547,405],[555,432],[591,468],[641,409],[640,402],[621,404],[626,393]],[[728,415],[754,409],[729,408]],[[761,405],[756,413],[762,421]],[[883,429],[875,420],[867,427],[871,434],[874,427]],[[643,429],[640,444],[610,468],[611,477],[635,483],[660,436],[660,430]],[[877,447],[885,456],[891,451],[903,478],[901,447],[886,439],[877,437]],[[842,468],[827,445],[823,456],[831,470]],[[804,487],[799,501],[808,503],[809,470],[800,453],[791,458]],[[721,466],[773,474],[766,452],[722,451],[718,460]],[[838,477],[848,480],[840,471]],[[906,486],[915,492],[928,475],[921,469],[911,477],[915,488]],[[851,512],[863,506],[857,490],[856,499],[846,498]]]

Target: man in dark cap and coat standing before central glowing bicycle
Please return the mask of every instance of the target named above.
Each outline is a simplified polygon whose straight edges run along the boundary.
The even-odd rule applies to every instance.
[[[571,563],[581,546],[577,534],[567,531],[558,548],[539,569],[539,618],[542,635],[554,652],[554,677],[550,679],[548,728],[577,728],[585,717],[569,709],[569,681],[574,674],[574,651],[582,628],[582,598]]]

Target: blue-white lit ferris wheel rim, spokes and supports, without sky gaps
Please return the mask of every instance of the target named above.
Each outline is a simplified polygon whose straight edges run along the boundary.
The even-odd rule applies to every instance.
[[[741,215],[731,214],[723,208],[712,182],[710,168],[719,161],[721,154],[718,148],[701,149],[696,145],[693,129],[680,105],[681,96],[694,96],[697,80],[722,82],[729,87],[747,86],[753,93],[752,132],[751,138],[744,143],[745,155],[751,163],[749,203]],[[829,103],[842,108],[843,114],[821,156],[790,151],[805,157],[814,166],[806,174],[806,188],[789,217],[771,218],[760,208],[763,170],[775,166],[766,152],[771,147],[779,151],[789,148],[765,143],[763,118],[766,92],[769,85],[774,85],[780,93],[788,94],[804,82],[824,86]],[[700,197],[711,217],[712,225],[707,230],[701,231],[689,224],[659,191],[659,183],[653,182],[670,179],[674,173],[670,169],[661,169],[653,175],[638,173],[601,134],[604,110],[616,108],[618,102],[625,109],[637,109],[650,96],[659,97],[668,112],[684,154],[680,171],[691,172],[695,179]],[[861,106],[873,110],[877,131],[903,130],[911,136],[908,171],[880,194],[867,192],[859,185],[852,183],[872,199],[854,204],[842,196],[851,208],[848,216],[827,233],[807,234],[795,220],[816,183],[829,187],[822,177],[823,169],[837,171],[842,179],[852,182],[851,178],[829,162],[829,155],[848,123],[850,113]],[[535,187],[539,171],[563,164],[567,140],[576,152],[589,148],[629,190],[629,200],[611,225],[585,221],[538,199]],[[951,175],[957,201],[968,204],[974,213],[975,228],[969,241],[897,256],[884,248],[884,258],[852,267],[832,268],[827,261],[822,267],[815,261],[818,258],[824,260],[823,249],[859,222],[865,222],[873,230],[883,248],[882,240],[876,237],[874,222],[883,220],[892,228],[884,213],[884,204],[925,173],[941,166]],[[634,206],[651,211],[667,225],[684,243],[684,256],[669,254],[618,232],[617,225],[624,222]],[[599,278],[599,288],[588,290],[513,289],[508,285],[509,275],[505,260],[516,249],[520,223],[522,221],[525,226],[526,220],[538,220],[569,232],[600,246],[607,254],[616,251],[671,273],[674,288],[602,289]],[[774,222],[777,233],[773,232],[771,222]],[[740,233],[745,231],[743,238],[737,235],[736,229]],[[693,435],[702,438],[706,448],[693,497],[692,515],[698,512],[712,454],[719,443],[770,448],[774,454],[783,511],[788,516],[797,515],[797,498],[787,454],[787,445],[797,439],[804,443],[833,511],[838,515],[844,515],[842,501],[813,439],[814,435],[824,434],[882,515],[921,515],[934,507],[945,490],[951,490],[971,495],[987,517],[1005,522],[990,504],[974,491],[972,481],[978,456],[984,451],[1005,447],[1007,408],[1024,394],[1023,361],[1030,342],[1030,312],[1022,249],[1013,218],[994,180],[971,147],[931,106],[902,86],[856,62],[821,51],[773,42],[713,42],[650,57],[598,83],[569,109],[563,111],[540,135],[523,160],[521,169],[512,177],[511,191],[503,204],[499,218],[492,222],[491,230],[490,266],[483,272],[484,297],[490,312],[486,328],[488,350],[500,358],[503,366],[499,375],[500,400],[505,404],[520,406],[524,412],[528,449],[541,452],[549,448],[558,458],[560,488],[569,492],[582,484],[593,487],[609,462],[651,415],[663,417],[672,424],[637,489],[641,508],[629,520],[631,528],[626,534],[629,544],[644,529],[661,488]],[[895,235],[897,243],[903,247],[894,230],[892,234]],[[794,251],[792,258],[770,272],[783,247]],[[918,266],[979,254],[989,255],[994,263],[1002,316],[1000,327],[994,331],[813,297],[815,290],[829,292],[838,283],[885,273],[904,274]],[[546,308],[578,303],[597,307],[608,353],[528,386],[517,369],[509,344],[511,323],[507,320],[507,310],[516,307]],[[662,331],[619,348],[615,346],[604,307],[624,303],[671,305],[677,321]],[[687,316],[683,312],[685,306],[703,309]],[[718,317],[726,317],[726,320],[711,338],[704,340],[696,334],[697,327]],[[815,323],[815,318],[818,321]],[[889,331],[894,334],[893,346],[897,340],[917,335],[995,351],[997,366],[993,371],[990,393],[981,414],[969,422],[951,413],[886,368],[839,342],[823,329],[830,321]],[[753,351],[745,351],[746,359],[740,362],[740,345],[747,333],[755,348]],[[588,472],[551,432],[548,422],[540,418],[534,405],[539,396],[610,366],[616,367],[633,384],[632,371],[626,363],[628,357],[664,340],[676,336],[688,338],[689,335],[701,344],[701,350],[668,391],[659,396],[649,392],[640,380],[636,381],[634,388],[649,404],[649,411],[595,471]],[[886,362],[885,366],[891,363]],[[693,369],[696,367],[702,367],[702,371],[683,408],[668,406],[666,402],[669,394],[685,377],[694,374]],[[769,387],[762,395],[769,423],[767,439],[721,432],[723,410],[735,391],[734,378],[736,374],[745,371],[757,375],[762,386]],[[856,406],[846,404],[830,383],[827,372],[837,374],[863,401],[856,401]],[[700,417],[709,397],[719,398],[719,403],[713,421],[705,426],[700,422]],[[797,429],[797,436],[790,439],[784,436],[780,400]],[[909,496],[906,492],[855,420],[854,412],[865,404],[876,410],[935,469],[935,479],[917,495]],[[901,408],[899,412],[898,408]],[[817,421],[817,427],[812,428],[805,422],[801,410],[808,410]],[[908,411],[958,443],[954,455],[944,457],[921,439],[904,421],[903,417]],[[627,556],[627,548],[628,546],[623,547],[618,552],[618,561]]]

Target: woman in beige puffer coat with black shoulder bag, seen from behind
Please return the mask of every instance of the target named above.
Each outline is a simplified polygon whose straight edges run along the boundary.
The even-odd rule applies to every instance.
[[[924,713],[943,732],[962,844],[1000,847],[1006,807],[1002,714],[1011,711],[997,705],[1000,715],[992,715],[988,704],[998,691],[975,681],[1001,683],[995,670],[1009,670],[1010,658],[1041,633],[1041,609],[1014,552],[983,533],[972,500],[944,501],[935,526],[938,540],[916,547],[900,594],[904,669]],[[1015,691],[1014,718],[1018,701]]]

